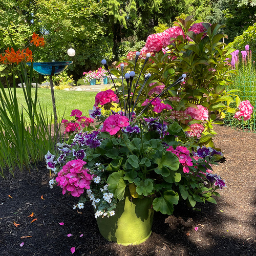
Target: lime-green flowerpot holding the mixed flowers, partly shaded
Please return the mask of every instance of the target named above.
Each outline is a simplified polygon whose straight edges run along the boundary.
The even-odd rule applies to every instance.
[[[136,199],[125,197],[117,203],[115,215],[97,218],[102,236],[121,245],[137,245],[151,235],[154,216],[153,198]]]

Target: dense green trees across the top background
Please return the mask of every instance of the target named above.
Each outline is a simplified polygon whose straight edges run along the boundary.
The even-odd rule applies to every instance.
[[[176,17],[194,15],[197,22],[225,25],[222,31],[228,43],[248,28],[251,31],[255,13],[256,0],[3,0],[0,52],[11,45],[9,34],[22,48],[36,32],[44,35],[46,46],[35,52],[34,60],[70,60],[66,52],[74,48],[77,54],[69,74],[77,80],[82,72],[98,68],[102,58],[111,62],[127,51],[140,50],[148,35],[173,26]],[[253,36],[249,32],[243,42],[250,41],[255,49]],[[0,76],[11,70],[0,66]]]

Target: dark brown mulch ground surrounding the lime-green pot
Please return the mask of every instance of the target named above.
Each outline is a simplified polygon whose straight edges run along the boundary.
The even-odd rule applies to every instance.
[[[7,174],[0,180],[0,255],[65,256],[72,255],[71,247],[73,255],[256,255],[256,134],[223,126],[215,130],[216,146],[225,153],[215,172],[227,183],[218,204],[199,204],[200,211],[180,205],[173,216],[156,212],[152,236],[141,245],[104,240],[90,204],[78,212],[72,208],[76,198],[49,188],[45,163],[31,174],[17,172],[15,179]],[[32,212],[34,217],[28,217]]]

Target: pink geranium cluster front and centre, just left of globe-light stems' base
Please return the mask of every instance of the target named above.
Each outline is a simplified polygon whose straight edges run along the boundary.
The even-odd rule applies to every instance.
[[[129,125],[129,119],[119,114],[111,115],[103,122],[101,132],[109,132],[110,135],[117,134],[123,127]]]

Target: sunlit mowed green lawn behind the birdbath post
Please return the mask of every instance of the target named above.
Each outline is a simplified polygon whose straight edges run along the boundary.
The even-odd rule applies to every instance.
[[[17,100],[20,104],[20,111],[22,106],[27,108],[26,101],[24,98],[22,88],[17,88]],[[8,90],[6,89],[8,94]],[[53,107],[52,107],[52,96],[51,90],[46,88],[38,88],[38,101],[42,108],[47,110],[48,115],[52,114],[53,119]],[[95,95],[97,92],[83,92],[83,91],[64,91],[64,90],[54,90],[56,111],[59,121],[62,116],[63,119],[70,119],[70,113],[74,109],[82,111],[83,116],[89,117],[88,110],[93,109],[93,104],[95,103]],[[32,95],[35,95],[35,88],[32,88]],[[37,105],[37,110],[39,110],[39,105]],[[26,111],[23,110],[25,119],[28,115]],[[38,112],[39,113],[39,112]],[[53,122],[53,120],[52,120]]]

